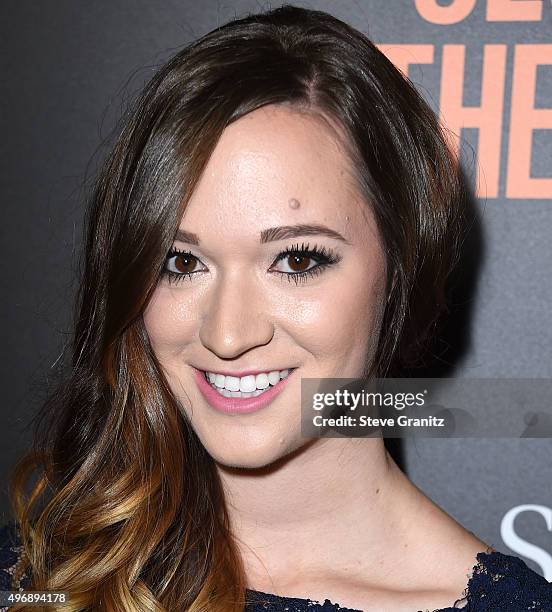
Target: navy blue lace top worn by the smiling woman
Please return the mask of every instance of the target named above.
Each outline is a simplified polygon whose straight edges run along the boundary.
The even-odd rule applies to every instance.
[[[14,525],[0,528],[0,590],[22,591],[29,574],[20,576],[22,546]],[[530,569],[519,557],[498,551],[480,552],[472,568],[464,597],[451,607],[432,612],[552,612],[552,582]],[[282,597],[248,589],[244,612],[362,612],[342,608],[326,599]],[[8,608],[0,608],[0,611]],[[422,612],[412,611],[412,612]],[[429,612],[425,610],[423,612]]]

